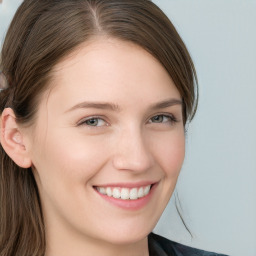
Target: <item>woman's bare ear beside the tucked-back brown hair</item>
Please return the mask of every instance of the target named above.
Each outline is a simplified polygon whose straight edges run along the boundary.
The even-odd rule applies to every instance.
[[[32,161],[24,143],[24,135],[11,108],[4,109],[0,124],[0,141],[5,152],[18,166],[31,167]]]

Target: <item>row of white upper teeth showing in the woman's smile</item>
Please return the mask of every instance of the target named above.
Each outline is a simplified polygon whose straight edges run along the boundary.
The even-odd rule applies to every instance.
[[[138,188],[121,188],[121,187],[95,187],[102,195],[122,200],[136,200],[147,196],[152,185],[142,186]]]

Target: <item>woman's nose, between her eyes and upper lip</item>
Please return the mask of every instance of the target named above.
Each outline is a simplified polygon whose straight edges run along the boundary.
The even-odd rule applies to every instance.
[[[144,172],[153,165],[153,155],[140,129],[123,131],[115,143],[113,165],[117,170]]]

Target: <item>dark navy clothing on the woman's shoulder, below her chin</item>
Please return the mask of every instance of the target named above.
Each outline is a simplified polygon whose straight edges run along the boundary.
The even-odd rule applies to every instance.
[[[154,233],[148,236],[148,244],[150,256],[227,256],[182,245]]]

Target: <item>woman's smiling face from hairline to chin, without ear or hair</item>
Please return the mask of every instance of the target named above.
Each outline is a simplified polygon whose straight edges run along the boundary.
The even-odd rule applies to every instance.
[[[184,159],[178,90],[154,57],[116,39],[84,45],[53,74],[28,133],[48,238],[142,240]]]

